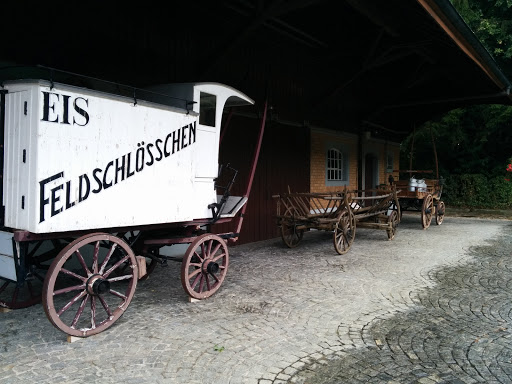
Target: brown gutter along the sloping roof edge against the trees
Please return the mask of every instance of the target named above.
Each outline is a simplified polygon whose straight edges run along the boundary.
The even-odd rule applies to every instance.
[[[505,92],[509,100],[511,84],[494,58],[475,36],[449,0],[417,0],[437,24],[478,65],[485,74]]]

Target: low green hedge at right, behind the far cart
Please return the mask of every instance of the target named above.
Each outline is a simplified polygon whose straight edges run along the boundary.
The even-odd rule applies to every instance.
[[[450,175],[445,180],[442,197],[452,206],[512,209],[512,181],[504,176]]]

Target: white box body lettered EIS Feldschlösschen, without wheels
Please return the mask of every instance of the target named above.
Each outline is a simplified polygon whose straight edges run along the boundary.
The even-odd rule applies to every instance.
[[[222,109],[252,103],[212,83],[161,88],[182,108],[44,81],[5,88],[4,224],[32,233],[211,217]],[[204,121],[203,95],[218,107]]]

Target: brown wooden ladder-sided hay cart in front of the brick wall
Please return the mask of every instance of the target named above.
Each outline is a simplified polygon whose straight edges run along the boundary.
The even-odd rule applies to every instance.
[[[375,192],[375,194],[373,194]],[[373,195],[369,195],[373,194]],[[283,242],[296,247],[304,231],[333,232],[334,249],[340,255],[349,251],[356,227],[384,229],[395,237],[400,222],[396,191],[344,191],[332,193],[283,193],[277,199],[277,225]]]

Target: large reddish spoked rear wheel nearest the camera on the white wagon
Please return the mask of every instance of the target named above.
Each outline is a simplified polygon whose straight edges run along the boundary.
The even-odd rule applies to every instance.
[[[112,256],[119,253],[123,257],[112,265]],[[125,268],[125,263],[130,267]],[[82,236],[68,244],[50,266],[43,286],[44,311],[68,335],[94,335],[126,311],[137,278],[135,255],[123,240],[106,233]]]

